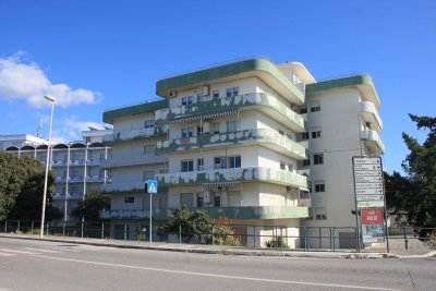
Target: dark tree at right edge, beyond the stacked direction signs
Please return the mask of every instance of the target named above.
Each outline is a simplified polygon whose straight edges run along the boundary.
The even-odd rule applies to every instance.
[[[409,114],[419,130],[428,131],[420,144],[416,138],[402,134],[410,154],[402,162],[407,177],[398,172],[386,174],[388,207],[404,214],[415,228],[436,227],[436,118]],[[421,234],[426,234],[424,230]]]

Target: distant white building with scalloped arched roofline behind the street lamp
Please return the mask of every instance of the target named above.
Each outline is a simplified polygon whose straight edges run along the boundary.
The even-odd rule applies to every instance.
[[[111,130],[83,131],[83,141],[50,145],[49,169],[55,175],[53,206],[71,221],[71,210],[77,207],[90,190],[110,183],[110,172],[100,168],[110,155],[110,147],[101,143]],[[43,165],[47,161],[47,140],[29,134],[1,135],[1,149],[19,156],[31,155]]]

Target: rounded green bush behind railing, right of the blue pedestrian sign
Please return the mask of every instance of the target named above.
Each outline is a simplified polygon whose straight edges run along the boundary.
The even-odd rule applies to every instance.
[[[177,208],[172,211],[168,221],[157,228],[157,233],[161,234],[179,234],[187,242],[195,238],[202,239],[202,234],[210,232],[211,219],[205,210],[195,210],[191,213],[187,208]]]

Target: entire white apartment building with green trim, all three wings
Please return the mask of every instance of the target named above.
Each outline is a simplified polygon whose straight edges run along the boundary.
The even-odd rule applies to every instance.
[[[156,179],[157,225],[190,207],[228,217],[246,245],[286,235],[293,247],[326,246],[311,228],[350,242],[351,158],[384,151],[371,77],[317,83],[301,63],[250,59],[159,80],[156,92],[164,100],[104,114],[113,124],[102,187],[112,204],[101,213],[111,235],[135,239],[147,226],[144,183]]]

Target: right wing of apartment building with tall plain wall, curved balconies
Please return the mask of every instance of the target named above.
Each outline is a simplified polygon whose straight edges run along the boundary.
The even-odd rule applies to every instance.
[[[310,158],[301,169],[308,169],[312,184],[312,214],[302,221],[306,227],[324,227],[311,240],[312,247],[336,245],[354,247],[356,227],[352,157],[380,156],[383,122],[380,101],[370,75],[353,75],[306,85]],[[337,229],[331,229],[336,227]],[[319,232],[322,234],[319,234]]]

